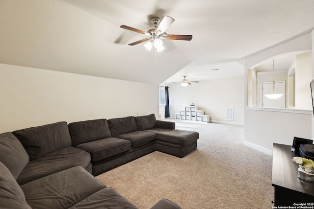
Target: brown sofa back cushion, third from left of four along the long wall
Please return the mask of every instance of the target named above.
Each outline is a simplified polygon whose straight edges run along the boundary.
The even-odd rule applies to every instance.
[[[134,116],[108,119],[112,137],[137,131]]]

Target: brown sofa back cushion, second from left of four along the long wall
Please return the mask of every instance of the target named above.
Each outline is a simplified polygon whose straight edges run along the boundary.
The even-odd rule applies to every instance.
[[[68,126],[73,146],[111,137],[106,119],[73,122]]]

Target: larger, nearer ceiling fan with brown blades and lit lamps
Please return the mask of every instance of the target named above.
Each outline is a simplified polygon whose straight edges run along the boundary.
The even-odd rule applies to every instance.
[[[157,51],[161,51],[164,48],[162,46],[161,39],[184,40],[184,41],[190,41],[192,39],[192,35],[168,34],[166,32],[166,30],[174,21],[175,21],[175,19],[173,19],[169,16],[164,16],[164,18],[161,20],[161,22],[160,22],[160,19],[158,17],[153,17],[151,19],[151,22],[154,24],[154,27],[149,28],[147,30],[147,32],[133,28],[133,27],[130,27],[130,26],[127,26],[127,25],[121,25],[120,27],[148,36],[148,38],[141,39],[139,41],[136,41],[136,42],[129,44],[130,46],[134,46],[134,45],[149,41],[147,44],[145,44],[146,48],[151,50],[151,48],[154,46],[157,49]]]

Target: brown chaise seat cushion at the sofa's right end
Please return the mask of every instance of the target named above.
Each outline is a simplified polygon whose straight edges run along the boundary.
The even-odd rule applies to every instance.
[[[199,133],[195,131],[186,131],[186,130],[179,130],[179,129],[161,129],[161,128],[153,128],[146,130],[147,132],[155,133],[156,142],[158,140],[166,141],[172,144],[177,144],[182,147],[193,143],[199,138]]]

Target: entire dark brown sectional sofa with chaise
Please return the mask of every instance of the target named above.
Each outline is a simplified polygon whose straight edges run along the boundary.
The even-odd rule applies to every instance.
[[[94,176],[154,151],[184,157],[199,134],[154,114],[0,134],[0,208],[138,209]],[[161,199],[152,209],[180,209]]]

